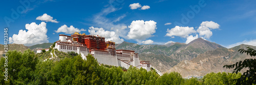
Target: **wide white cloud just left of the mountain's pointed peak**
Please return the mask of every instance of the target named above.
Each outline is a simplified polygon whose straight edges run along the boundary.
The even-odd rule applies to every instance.
[[[182,27],[182,26],[175,26],[173,29],[167,29],[167,34],[165,36],[169,36],[174,38],[173,36],[179,36],[182,38],[188,37],[189,34],[196,33],[194,27]]]

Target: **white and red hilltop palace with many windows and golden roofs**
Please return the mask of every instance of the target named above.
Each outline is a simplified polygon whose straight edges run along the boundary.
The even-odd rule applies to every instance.
[[[104,37],[74,33],[71,36],[59,35],[55,48],[59,51],[81,54],[86,60],[88,53],[92,54],[100,64],[120,66],[129,69],[130,66],[151,70],[148,61],[140,61],[139,54],[134,50],[116,49],[115,42],[105,42]]]

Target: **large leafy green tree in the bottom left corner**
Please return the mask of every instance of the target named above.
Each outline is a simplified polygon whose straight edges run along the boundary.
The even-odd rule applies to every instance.
[[[38,59],[34,52],[30,49],[25,50],[24,53],[20,51],[8,51],[8,66],[5,67],[5,59],[1,59],[1,69],[8,68],[8,83],[9,84],[28,84],[34,78],[33,73],[36,69]],[[3,72],[1,72],[2,74]],[[1,76],[3,78],[3,76]],[[6,82],[1,82],[6,84]]]

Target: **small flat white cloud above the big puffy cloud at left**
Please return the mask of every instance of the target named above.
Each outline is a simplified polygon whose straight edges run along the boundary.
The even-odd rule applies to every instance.
[[[43,14],[42,16],[38,16],[36,17],[36,20],[41,20],[41,21],[50,21],[50,22],[54,22],[54,23],[58,23],[57,19],[53,20],[53,17],[51,17],[50,15],[47,15],[46,13]]]

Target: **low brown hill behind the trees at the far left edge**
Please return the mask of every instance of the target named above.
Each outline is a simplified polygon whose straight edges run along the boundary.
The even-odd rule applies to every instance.
[[[27,49],[28,47],[23,44],[8,44],[8,50],[17,50],[23,52]],[[4,53],[4,45],[0,44],[0,54],[3,55]]]

